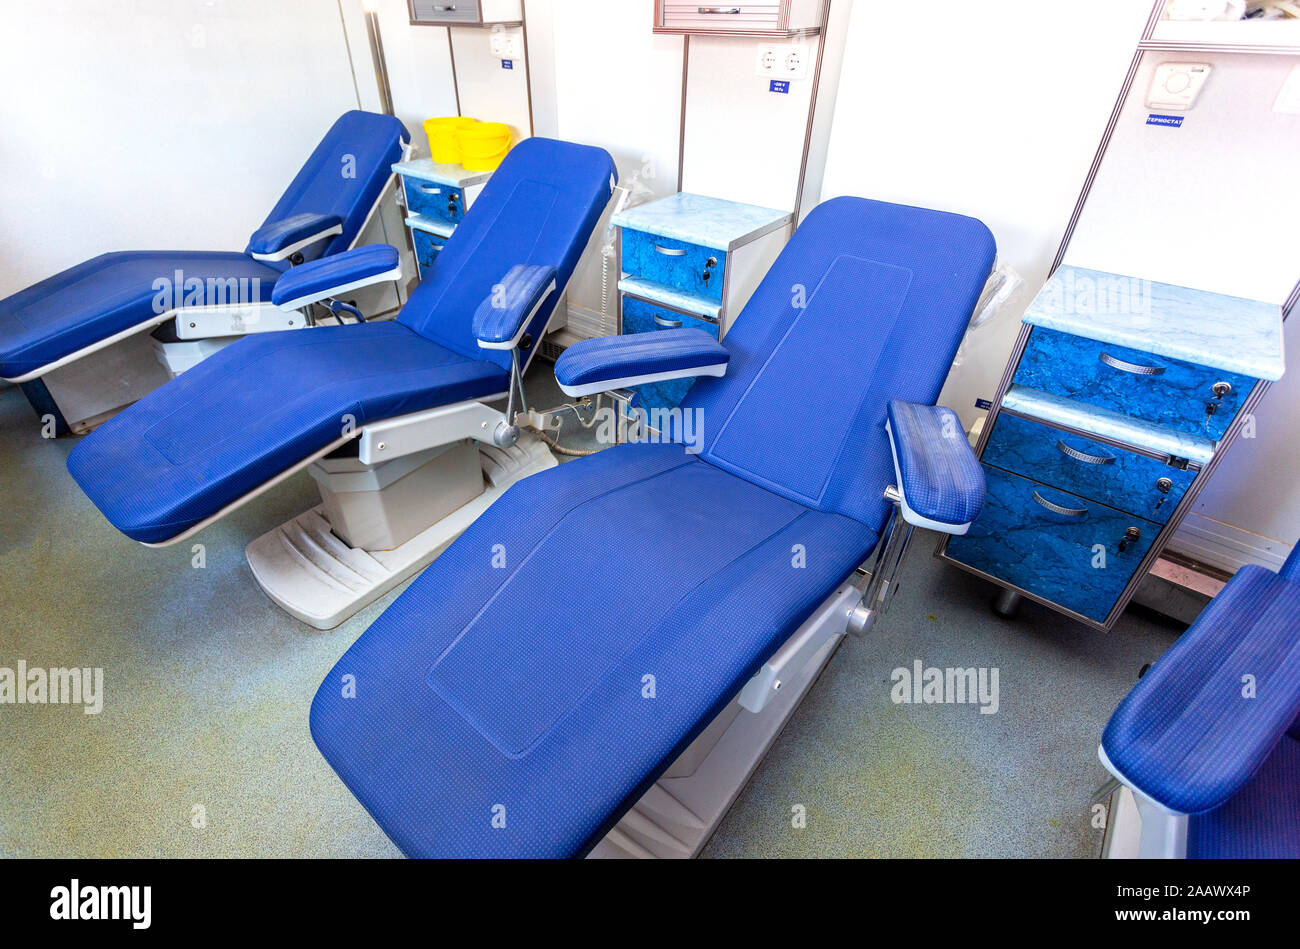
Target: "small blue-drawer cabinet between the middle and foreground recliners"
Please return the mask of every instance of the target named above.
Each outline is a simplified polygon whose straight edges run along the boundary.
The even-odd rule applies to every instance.
[[[786,211],[679,192],[614,216],[623,333],[702,329],[723,338],[790,237]],[[634,404],[675,408],[692,378],[637,386]]]

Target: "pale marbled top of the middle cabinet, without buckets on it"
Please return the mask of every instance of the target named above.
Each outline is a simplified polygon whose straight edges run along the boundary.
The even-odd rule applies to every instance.
[[[793,214],[788,211],[737,204],[684,191],[614,216],[614,224],[619,228],[644,230],[719,251],[733,251],[792,220]]]

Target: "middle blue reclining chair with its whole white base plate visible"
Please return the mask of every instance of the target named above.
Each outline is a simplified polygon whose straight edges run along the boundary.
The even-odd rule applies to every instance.
[[[514,399],[485,402],[515,391],[615,181],[599,148],[521,142],[396,321],[246,337],[88,436],[69,472],[127,537],[169,545],[309,467],[322,507],[248,559],[277,603],[337,625],[555,464],[519,437]],[[303,264],[274,298],[325,299],[395,259],[380,246]]]

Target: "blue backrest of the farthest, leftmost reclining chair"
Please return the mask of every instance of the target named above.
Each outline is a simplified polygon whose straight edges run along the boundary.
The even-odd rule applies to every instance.
[[[343,233],[326,244],[322,257],[346,251],[365,224],[370,208],[393,177],[411,133],[393,116],[352,109],[344,112],[311,153],[263,226],[303,213],[338,214]],[[286,269],[287,263],[280,269]]]

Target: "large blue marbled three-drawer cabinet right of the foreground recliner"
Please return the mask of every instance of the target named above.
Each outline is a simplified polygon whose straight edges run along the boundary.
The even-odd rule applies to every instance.
[[[1109,629],[1282,373],[1275,304],[1062,266],[985,420],[984,511],[940,555]]]

